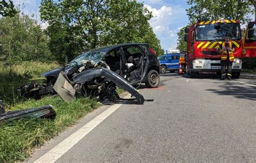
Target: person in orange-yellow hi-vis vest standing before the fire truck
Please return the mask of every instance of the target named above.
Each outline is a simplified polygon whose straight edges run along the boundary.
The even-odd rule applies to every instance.
[[[225,37],[225,42],[220,46],[221,48],[221,80],[224,80],[226,75],[227,79],[231,80],[232,77],[232,63],[234,60],[234,45],[230,42],[229,37]],[[227,66],[227,74],[226,74]]]

